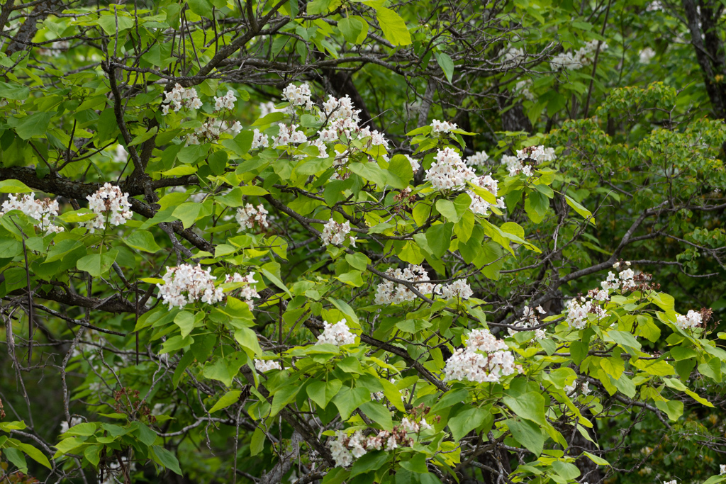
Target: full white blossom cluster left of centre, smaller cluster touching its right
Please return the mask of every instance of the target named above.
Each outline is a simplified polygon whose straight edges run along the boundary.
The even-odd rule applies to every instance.
[[[183,308],[195,300],[208,304],[219,303],[224,298],[224,292],[221,287],[214,287],[216,277],[210,272],[211,268],[205,271],[199,264],[167,267],[166,274],[162,277],[164,284],[159,287],[159,295],[169,305],[169,309],[174,306]]]

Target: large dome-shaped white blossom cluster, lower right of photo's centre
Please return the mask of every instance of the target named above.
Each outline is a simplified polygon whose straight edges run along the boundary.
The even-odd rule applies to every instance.
[[[466,348],[459,348],[446,360],[444,381],[498,382],[502,376],[522,371],[514,364],[514,355],[502,340],[489,329],[474,329],[469,333]]]

